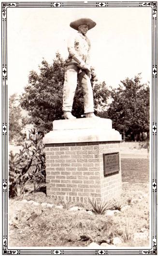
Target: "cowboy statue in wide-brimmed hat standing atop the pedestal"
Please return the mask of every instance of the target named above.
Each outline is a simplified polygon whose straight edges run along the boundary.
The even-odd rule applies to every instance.
[[[78,33],[68,41],[69,57],[65,70],[62,108],[65,119],[76,118],[72,116],[72,104],[77,87],[77,78],[83,89],[85,116],[86,118],[96,117],[94,115],[93,90],[90,82],[90,41],[86,37],[87,31],[95,25],[96,23],[89,18],[81,18],[70,23],[70,26]]]

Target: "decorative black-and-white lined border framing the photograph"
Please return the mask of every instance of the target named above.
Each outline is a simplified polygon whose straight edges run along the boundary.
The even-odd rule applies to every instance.
[[[27,7],[146,7],[152,9],[152,131],[150,131],[151,141],[151,168],[152,168],[152,191],[151,191],[151,225],[152,225],[152,247],[150,249],[10,249],[8,247],[8,129],[7,124],[7,10],[8,8]],[[2,255],[157,255],[157,1],[65,1],[65,2],[2,2],[1,3],[1,81],[2,81]]]

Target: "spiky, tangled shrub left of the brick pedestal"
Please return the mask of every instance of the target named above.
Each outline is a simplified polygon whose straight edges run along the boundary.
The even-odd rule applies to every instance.
[[[23,144],[19,154],[11,152],[9,155],[9,197],[20,198],[28,181],[33,182],[34,190],[39,188],[41,182],[45,182],[42,136],[35,136],[35,130],[31,130],[31,134],[33,138]]]

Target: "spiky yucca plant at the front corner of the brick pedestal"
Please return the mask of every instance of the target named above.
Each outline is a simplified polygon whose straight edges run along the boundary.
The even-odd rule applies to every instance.
[[[105,214],[105,212],[112,208],[113,203],[111,201],[101,201],[97,202],[96,198],[88,198],[90,205],[92,206],[92,211],[95,214]]]

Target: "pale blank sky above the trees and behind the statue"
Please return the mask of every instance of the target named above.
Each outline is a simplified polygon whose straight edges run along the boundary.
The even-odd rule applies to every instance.
[[[76,33],[70,22],[88,17],[97,25],[87,32],[91,66],[98,80],[117,87],[126,77],[142,73],[151,84],[151,8],[8,8],[8,93],[21,94],[30,70],[38,72],[43,58],[53,63],[59,51],[68,56],[67,40]]]

